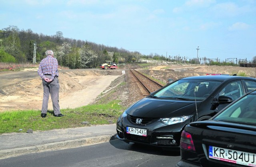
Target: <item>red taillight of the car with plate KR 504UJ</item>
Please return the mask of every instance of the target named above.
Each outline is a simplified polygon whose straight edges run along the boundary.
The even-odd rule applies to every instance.
[[[180,139],[180,147],[182,149],[196,151],[192,136],[186,131],[182,131]]]

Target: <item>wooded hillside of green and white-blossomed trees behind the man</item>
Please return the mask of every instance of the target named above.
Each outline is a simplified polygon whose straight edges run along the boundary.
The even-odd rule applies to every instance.
[[[34,54],[34,46],[36,53]],[[106,60],[116,64],[138,61],[140,52],[129,52],[123,48],[105,46],[83,40],[64,38],[61,31],[52,36],[19,30],[8,26],[0,30],[0,62],[39,63],[45,58],[45,51],[53,50],[59,65],[76,68],[98,68]]]

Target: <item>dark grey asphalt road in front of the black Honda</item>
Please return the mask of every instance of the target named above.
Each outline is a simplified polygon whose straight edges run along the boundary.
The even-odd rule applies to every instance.
[[[31,153],[0,160],[1,167],[175,167],[177,152],[156,147],[127,144],[118,139],[110,142]]]

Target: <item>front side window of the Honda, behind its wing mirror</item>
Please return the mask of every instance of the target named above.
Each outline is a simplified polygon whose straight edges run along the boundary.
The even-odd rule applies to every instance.
[[[231,97],[233,100],[238,99],[244,95],[244,92],[242,91],[242,82],[236,81],[229,83],[221,91],[219,91],[216,97],[218,98],[220,95]]]

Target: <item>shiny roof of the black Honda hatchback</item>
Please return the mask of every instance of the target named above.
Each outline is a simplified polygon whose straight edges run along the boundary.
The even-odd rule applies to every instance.
[[[222,75],[218,75],[218,76],[192,76],[192,77],[186,77],[186,78],[182,78],[182,80],[184,79],[188,79],[188,80],[218,80],[218,81],[224,81],[230,78],[234,78],[234,79],[242,79],[242,80],[246,80],[246,79],[252,79],[252,80],[256,80],[256,78],[251,78],[251,77],[242,77],[242,76],[222,76]]]

